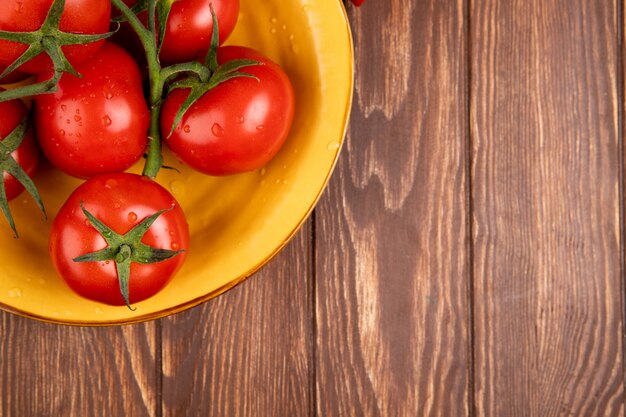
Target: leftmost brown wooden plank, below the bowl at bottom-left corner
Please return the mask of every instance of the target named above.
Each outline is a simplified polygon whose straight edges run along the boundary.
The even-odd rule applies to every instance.
[[[155,328],[67,327],[0,312],[0,417],[157,416]]]

